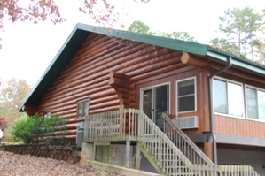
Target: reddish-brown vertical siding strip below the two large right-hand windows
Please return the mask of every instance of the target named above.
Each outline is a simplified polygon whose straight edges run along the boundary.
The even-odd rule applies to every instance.
[[[255,120],[214,115],[214,128],[216,134],[265,138],[265,123]]]

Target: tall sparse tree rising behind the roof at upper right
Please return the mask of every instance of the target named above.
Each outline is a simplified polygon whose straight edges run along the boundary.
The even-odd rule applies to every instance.
[[[219,34],[221,38],[211,40],[211,44],[216,48],[229,51],[235,55],[246,57],[251,60],[260,59],[254,53],[259,52],[255,43],[261,27],[264,25],[264,14],[255,11],[252,7],[231,8],[224,11],[220,17]],[[261,45],[259,45],[261,46]]]

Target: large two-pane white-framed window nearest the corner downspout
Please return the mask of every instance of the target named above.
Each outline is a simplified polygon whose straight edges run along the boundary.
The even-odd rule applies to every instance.
[[[214,112],[243,117],[242,85],[214,78]]]

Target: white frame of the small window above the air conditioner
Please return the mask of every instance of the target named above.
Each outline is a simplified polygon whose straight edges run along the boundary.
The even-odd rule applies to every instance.
[[[178,91],[177,91],[177,88],[178,88],[178,83],[179,82],[183,82],[185,80],[194,80],[194,110],[192,111],[178,111]],[[187,112],[194,112],[194,111],[197,111],[197,77],[196,76],[192,76],[192,77],[189,77],[189,78],[185,78],[185,79],[182,79],[182,80],[176,80],[175,81],[175,114],[182,114],[182,113],[187,113]]]

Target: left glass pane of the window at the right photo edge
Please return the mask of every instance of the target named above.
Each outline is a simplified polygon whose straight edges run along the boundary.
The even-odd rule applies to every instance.
[[[257,95],[253,88],[246,88],[247,118],[258,119]]]

